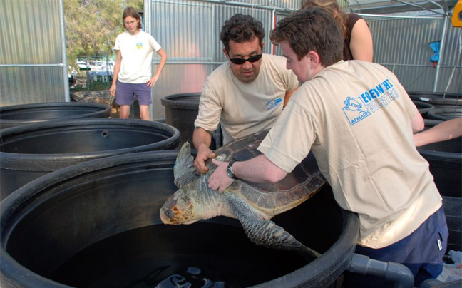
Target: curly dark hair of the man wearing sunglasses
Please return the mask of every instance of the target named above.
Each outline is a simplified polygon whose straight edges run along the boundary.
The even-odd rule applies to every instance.
[[[225,46],[226,51],[230,51],[230,40],[236,43],[252,41],[258,38],[260,46],[263,46],[265,29],[260,21],[255,20],[250,15],[235,14],[225,21],[220,33],[220,40]]]

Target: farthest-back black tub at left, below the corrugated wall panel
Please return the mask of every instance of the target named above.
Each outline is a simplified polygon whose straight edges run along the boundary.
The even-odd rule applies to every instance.
[[[31,103],[0,107],[0,129],[49,120],[109,118],[111,107],[102,103]]]

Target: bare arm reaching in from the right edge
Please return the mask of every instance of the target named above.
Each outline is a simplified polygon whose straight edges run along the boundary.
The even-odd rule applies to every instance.
[[[454,118],[439,123],[424,132],[414,134],[414,143],[416,147],[430,143],[451,140],[461,137],[462,135],[462,118]]]

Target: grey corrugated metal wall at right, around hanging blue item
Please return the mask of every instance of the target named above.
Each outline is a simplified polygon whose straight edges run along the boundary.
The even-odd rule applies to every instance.
[[[374,40],[374,62],[393,71],[407,91],[462,93],[462,29],[443,16],[364,18]],[[429,44],[434,41],[443,45],[436,66],[430,61],[434,52]]]

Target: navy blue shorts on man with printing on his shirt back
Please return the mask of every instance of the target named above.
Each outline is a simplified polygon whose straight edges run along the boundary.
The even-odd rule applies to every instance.
[[[404,264],[414,274],[414,287],[428,278],[436,278],[443,271],[448,227],[443,207],[433,213],[408,237],[381,249],[356,246],[356,253],[383,262]],[[344,288],[390,288],[393,284],[373,275],[344,273]]]

